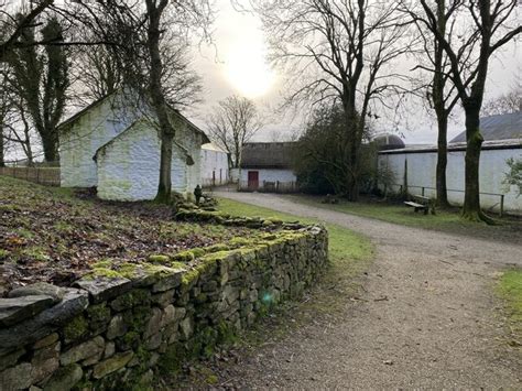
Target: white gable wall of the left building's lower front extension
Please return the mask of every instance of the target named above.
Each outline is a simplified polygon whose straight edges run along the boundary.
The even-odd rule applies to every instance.
[[[97,155],[98,197],[113,200],[153,199],[157,192],[161,142],[157,131],[145,120],[104,146]],[[173,145],[173,189],[186,195],[195,180],[186,165],[186,154]]]

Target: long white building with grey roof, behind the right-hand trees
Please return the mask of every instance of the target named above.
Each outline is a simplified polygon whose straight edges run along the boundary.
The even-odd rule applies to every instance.
[[[522,196],[518,197],[515,186],[507,187],[502,181],[509,171],[507,160],[522,159],[522,113],[492,116],[480,119],[480,131],[485,138],[480,153],[479,185],[480,204],[483,209],[503,210],[522,215]],[[465,134],[459,134],[448,144],[446,181],[448,200],[454,205],[464,204],[465,189]],[[379,166],[390,169],[396,185],[392,191],[404,186],[411,194],[424,194],[436,197],[436,146],[410,146],[379,152]],[[407,175],[404,175],[407,171]]]

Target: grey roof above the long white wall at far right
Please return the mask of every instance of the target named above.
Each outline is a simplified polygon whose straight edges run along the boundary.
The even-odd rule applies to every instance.
[[[480,133],[485,141],[522,139],[522,111],[480,118]],[[466,131],[449,142],[466,142]]]

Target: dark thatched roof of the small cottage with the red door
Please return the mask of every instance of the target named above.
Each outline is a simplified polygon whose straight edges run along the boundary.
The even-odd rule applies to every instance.
[[[291,169],[295,142],[249,142],[241,153],[242,169]]]

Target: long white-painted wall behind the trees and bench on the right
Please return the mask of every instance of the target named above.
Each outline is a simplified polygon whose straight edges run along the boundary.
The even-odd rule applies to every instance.
[[[465,151],[448,152],[448,165],[446,170],[447,188],[459,189],[465,188]],[[511,214],[522,215],[522,196],[516,197],[514,186],[508,191],[502,184],[504,173],[508,172],[505,161],[509,158],[522,159],[522,148],[513,146],[504,150],[482,150],[480,154],[480,192],[505,194],[504,210]],[[425,153],[381,153],[379,154],[379,165],[389,166],[394,175],[395,183],[403,184],[404,180],[404,161],[407,160],[407,185],[409,186],[426,186],[435,187],[436,184],[436,152]],[[399,189],[399,186],[393,188]],[[418,188],[411,188],[410,193],[421,193]],[[435,197],[435,191],[425,191],[425,195]],[[449,203],[463,205],[464,193],[448,192]],[[481,195],[480,203],[482,208],[499,210],[500,197]]]

